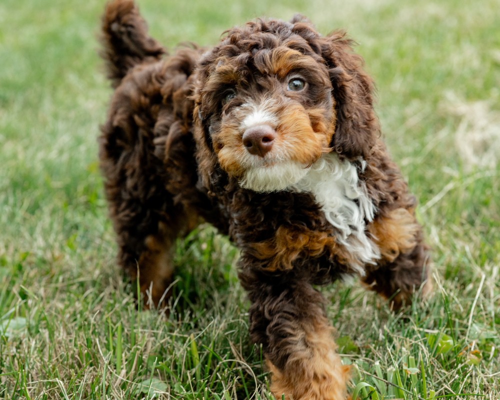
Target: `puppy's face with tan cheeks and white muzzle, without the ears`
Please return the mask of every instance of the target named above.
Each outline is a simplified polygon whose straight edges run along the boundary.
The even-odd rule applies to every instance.
[[[334,107],[326,67],[286,46],[217,57],[204,90],[220,167],[255,191],[296,183],[329,151]]]

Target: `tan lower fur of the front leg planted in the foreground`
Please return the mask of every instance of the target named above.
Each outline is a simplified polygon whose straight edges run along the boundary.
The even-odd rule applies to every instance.
[[[350,367],[342,365],[335,352],[337,345],[326,318],[304,324],[303,328],[305,337],[297,340],[301,345],[297,345],[283,370],[266,360],[272,374],[271,392],[275,398],[284,394],[286,399],[291,395],[300,400],[345,400]]]

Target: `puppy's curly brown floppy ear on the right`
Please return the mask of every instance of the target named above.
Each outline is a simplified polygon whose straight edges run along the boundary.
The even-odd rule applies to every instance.
[[[344,31],[320,40],[336,102],[337,121],[330,145],[348,158],[366,159],[380,135],[373,110],[373,81],[364,72],[363,59],[352,51],[354,42],[345,37]]]

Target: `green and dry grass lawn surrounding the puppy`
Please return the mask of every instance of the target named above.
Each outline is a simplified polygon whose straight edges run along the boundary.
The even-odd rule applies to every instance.
[[[500,398],[500,2],[138,2],[168,46],[297,11],[323,33],[348,30],[419,199],[434,279],[399,313],[357,283],[322,289],[349,390]],[[111,93],[96,56],[103,5],[0,1],[0,398],[270,398],[225,237],[201,226],[179,241],[168,318],[137,311],[115,265],[96,144]]]

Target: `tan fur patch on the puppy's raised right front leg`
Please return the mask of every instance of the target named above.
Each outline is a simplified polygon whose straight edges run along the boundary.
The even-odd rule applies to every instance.
[[[387,216],[378,216],[368,225],[382,257],[394,261],[399,253],[411,251],[416,244],[418,223],[412,212],[396,208]]]

